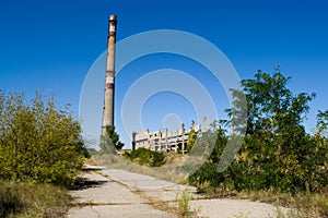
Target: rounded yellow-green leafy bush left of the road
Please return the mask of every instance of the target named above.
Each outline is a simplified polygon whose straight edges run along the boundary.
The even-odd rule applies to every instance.
[[[0,90],[0,179],[69,184],[87,154],[69,106]]]

